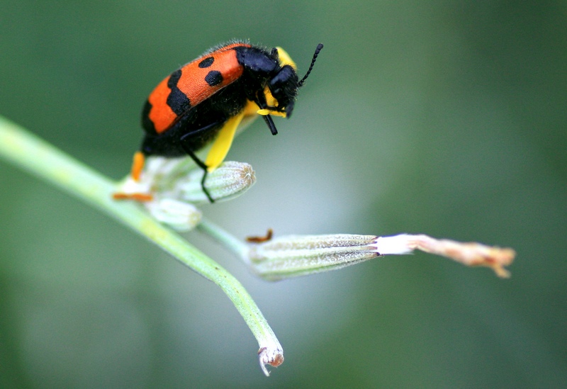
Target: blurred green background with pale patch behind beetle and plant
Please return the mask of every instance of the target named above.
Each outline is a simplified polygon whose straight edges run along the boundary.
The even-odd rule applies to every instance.
[[[283,344],[266,378],[213,283],[0,161],[0,387],[565,387],[566,1],[4,0],[0,115],[119,179],[147,94],[231,38],[301,74],[325,49],[279,135],[236,140],[258,182],[210,219],[513,247],[512,278],[420,253],[266,283],[187,234]]]

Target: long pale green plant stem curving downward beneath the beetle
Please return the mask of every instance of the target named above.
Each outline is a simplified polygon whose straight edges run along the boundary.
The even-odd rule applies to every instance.
[[[1,116],[0,157],[82,198],[216,283],[232,300],[260,347],[269,344],[281,350],[274,332],[242,284],[213,259],[155,221],[137,204],[113,200],[112,193],[117,189],[115,182]]]

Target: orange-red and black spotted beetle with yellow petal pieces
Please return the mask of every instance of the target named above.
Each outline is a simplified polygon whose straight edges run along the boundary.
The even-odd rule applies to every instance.
[[[296,64],[281,47],[268,50],[240,40],[213,47],[177,69],[156,86],[142,109],[145,136],[134,155],[133,179],[140,180],[150,155],[189,155],[203,169],[201,187],[213,203],[206,177],[225,159],[239,125],[259,114],[276,135],[271,115],[291,116],[298,88],[313,70],[322,47],[315,49],[301,80]],[[196,152],[210,143],[201,161]]]

